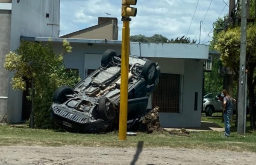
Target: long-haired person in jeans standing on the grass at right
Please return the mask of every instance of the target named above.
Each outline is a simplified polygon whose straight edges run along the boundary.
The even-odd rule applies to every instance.
[[[232,117],[232,107],[236,100],[230,97],[227,90],[222,90],[221,97],[223,98],[223,112],[224,112],[224,123],[225,123],[225,134],[224,138],[230,137],[230,119]]]

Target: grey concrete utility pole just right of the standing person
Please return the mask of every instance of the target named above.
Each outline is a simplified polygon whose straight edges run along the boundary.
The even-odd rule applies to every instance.
[[[238,126],[237,133],[244,133],[244,101],[245,100],[245,67],[246,67],[246,37],[247,37],[247,0],[242,0],[241,9],[241,47],[240,47],[240,69],[238,90]]]

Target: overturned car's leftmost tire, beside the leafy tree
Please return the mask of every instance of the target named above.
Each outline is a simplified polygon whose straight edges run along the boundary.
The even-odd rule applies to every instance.
[[[74,91],[72,90],[71,87],[68,87],[68,86],[59,87],[53,95],[53,102],[59,103],[59,104],[65,103],[65,101],[67,101],[68,99],[67,95],[71,95],[71,94],[74,94]]]

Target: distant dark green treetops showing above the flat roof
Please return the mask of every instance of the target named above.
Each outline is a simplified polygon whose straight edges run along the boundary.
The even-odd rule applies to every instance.
[[[142,42],[142,43],[196,43],[195,40],[190,40],[185,36],[177,37],[175,39],[168,39],[162,35],[155,34],[151,37],[147,37],[145,35],[132,35],[130,36],[131,42]]]

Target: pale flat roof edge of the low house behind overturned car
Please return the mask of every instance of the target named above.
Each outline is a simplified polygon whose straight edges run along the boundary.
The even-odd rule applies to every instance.
[[[117,40],[94,40],[80,38],[49,38],[49,37],[26,37],[21,36],[21,40],[38,42],[63,42],[67,40],[70,43],[94,43],[94,44],[122,44]],[[189,43],[140,43],[130,42],[130,53],[141,57],[152,58],[186,58],[203,59],[209,58],[209,45],[189,44]]]

